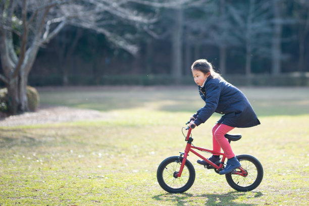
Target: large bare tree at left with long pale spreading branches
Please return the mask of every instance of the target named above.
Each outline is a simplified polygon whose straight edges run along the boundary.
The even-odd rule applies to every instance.
[[[131,54],[138,47],[126,25],[143,28],[155,22],[156,10],[139,12],[138,6],[174,7],[181,1],[138,0],[10,0],[0,1],[0,54],[12,114],[28,111],[26,86],[38,49],[55,37],[65,25],[74,25],[104,34]],[[121,24],[121,26],[115,26]],[[122,30],[121,30],[122,29]],[[14,41],[18,37],[19,41]]]

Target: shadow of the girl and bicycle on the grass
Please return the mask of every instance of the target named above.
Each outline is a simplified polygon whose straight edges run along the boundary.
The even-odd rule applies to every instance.
[[[251,192],[253,194],[253,198],[260,197],[263,195],[262,192]],[[180,193],[180,194],[172,194],[165,193],[153,196],[153,199],[156,200],[164,200],[174,202],[175,205],[187,205],[188,203],[194,202],[194,199],[204,199],[205,205],[236,205],[236,206],[249,206],[249,205],[257,205],[253,203],[237,203],[233,200],[238,199],[241,196],[245,197],[245,192],[237,192],[232,191],[226,194],[189,194],[189,193]],[[251,197],[251,195],[250,195]],[[252,197],[251,197],[252,198]]]

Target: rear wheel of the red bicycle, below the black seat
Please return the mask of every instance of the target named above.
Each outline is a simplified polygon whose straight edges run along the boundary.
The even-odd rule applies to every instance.
[[[251,191],[258,187],[264,173],[260,161],[250,155],[239,155],[236,158],[248,175],[243,177],[232,173],[226,174],[225,178],[229,185],[237,191]]]

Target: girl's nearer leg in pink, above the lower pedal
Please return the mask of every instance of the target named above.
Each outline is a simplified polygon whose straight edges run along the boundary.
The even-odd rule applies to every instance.
[[[229,141],[227,140],[227,138],[224,137],[224,135],[234,128],[235,127],[230,127],[228,125],[221,124],[221,125],[218,126],[218,128],[214,132],[215,140],[218,142],[220,147],[223,149],[223,151],[224,151],[224,153],[225,153],[225,155],[228,159],[235,157],[235,155],[234,155],[234,152],[232,150],[232,147],[231,147]],[[215,151],[217,151],[217,150],[215,150]]]

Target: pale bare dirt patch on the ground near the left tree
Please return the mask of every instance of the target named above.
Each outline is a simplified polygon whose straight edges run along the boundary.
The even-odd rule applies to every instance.
[[[106,117],[103,113],[95,110],[76,109],[63,106],[41,106],[36,112],[27,112],[21,115],[1,118],[0,127],[88,121],[104,118]]]

